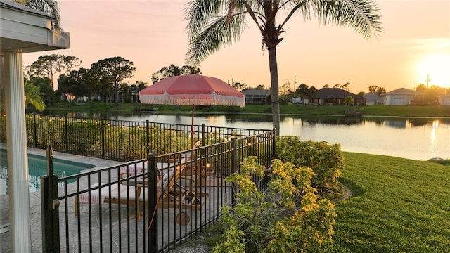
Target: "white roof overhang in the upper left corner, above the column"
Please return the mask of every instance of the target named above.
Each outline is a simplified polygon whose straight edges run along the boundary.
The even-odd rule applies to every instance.
[[[53,17],[0,0],[0,51],[32,53],[70,48],[70,33],[53,30]]]

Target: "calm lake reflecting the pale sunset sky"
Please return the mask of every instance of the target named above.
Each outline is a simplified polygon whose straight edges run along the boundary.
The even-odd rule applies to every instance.
[[[76,113],[68,116],[191,124],[189,115]],[[272,129],[271,115],[195,115],[194,124]],[[280,126],[281,135],[300,136],[303,141],[340,143],[343,151],[413,160],[450,159],[450,118],[282,116]]]

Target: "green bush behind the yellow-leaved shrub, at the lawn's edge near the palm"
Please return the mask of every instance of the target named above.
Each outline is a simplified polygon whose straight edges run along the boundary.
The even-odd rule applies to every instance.
[[[311,167],[314,171],[311,186],[319,191],[319,195],[335,193],[338,189],[338,179],[344,167],[340,144],[300,141],[299,136],[277,136],[276,157],[297,167]]]

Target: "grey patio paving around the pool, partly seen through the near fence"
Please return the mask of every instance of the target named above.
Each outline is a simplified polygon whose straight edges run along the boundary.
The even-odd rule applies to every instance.
[[[45,150],[28,148],[30,154],[45,156]],[[110,160],[101,160],[91,157],[82,157],[78,155],[69,155],[65,153],[55,152],[55,158],[70,160],[75,162],[84,162],[94,164],[96,169],[113,167],[121,162]],[[113,173],[114,174],[114,173]],[[108,175],[102,174],[101,180],[108,181]],[[91,181],[92,183],[96,183]],[[221,186],[221,180],[215,181],[216,186]],[[75,183],[69,183],[68,188],[75,188]],[[86,181],[80,181],[80,189],[87,188]],[[60,189],[61,191],[62,189]],[[205,187],[210,194],[205,201],[207,207],[202,211],[188,210],[190,223],[186,226],[179,226],[175,223],[175,216],[179,213],[178,209],[161,209],[158,208],[158,246],[167,245],[176,238],[183,237],[200,224],[210,219],[210,216],[219,214],[220,207],[223,203],[228,202],[228,194],[223,194],[219,187]],[[60,195],[63,193],[60,192]],[[0,222],[2,232],[0,234],[0,252],[10,252],[10,233],[8,231],[8,195],[0,195]],[[143,248],[143,238],[146,236],[146,224],[148,223],[148,211],[146,212],[146,220],[136,221],[136,207],[130,206],[129,209],[125,205],[102,204],[101,209],[98,205],[92,205],[91,216],[89,216],[88,205],[80,206],[79,219],[75,216],[74,197],[68,198],[68,243],[70,252],[99,252],[101,248],[110,252],[120,252],[121,250],[135,250],[136,247],[141,251]],[[139,209],[142,209],[140,207]],[[101,215],[100,215],[101,213]],[[61,201],[59,207],[60,215],[60,245],[61,250],[66,249],[65,234],[65,203]],[[120,219],[118,216],[120,215]],[[203,222],[202,222],[203,221]],[[127,222],[129,222],[127,224]],[[32,236],[32,252],[42,252],[42,236],[41,236],[41,192],[30,193],[30,224]],[[79,228],[78,228],[79,224]],[[101,224],[101,226],[100,226]],[[130,226],[131,224],[131,226]],[[164,228],[163,228],[164,226]],[[113,228],[113,232],[108,231],[109,227]],[[100,229],[101,228],[101,229]],[[81,241],[79,243],[78,229],[80,231]],[[89,230],[90,229],[90,230]],[[89,233],[90,231],[90,233]],[[162,233],[160,232],[162,231]],[[91,242],[91,244],[89,244]],[[180,242],[178,242],[179,244]]]

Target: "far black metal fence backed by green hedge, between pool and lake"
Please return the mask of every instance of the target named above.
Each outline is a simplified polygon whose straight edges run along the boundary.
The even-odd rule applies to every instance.
[[[51,145],[63,153],[122,162],[143,159],[150,152],[187,150],[194,140],[211,145],[270,131],[37,114],[27,115],[25,121],[30,147],[46,149]],[[0,117],[0,142],[6,143],[4,116]]]

